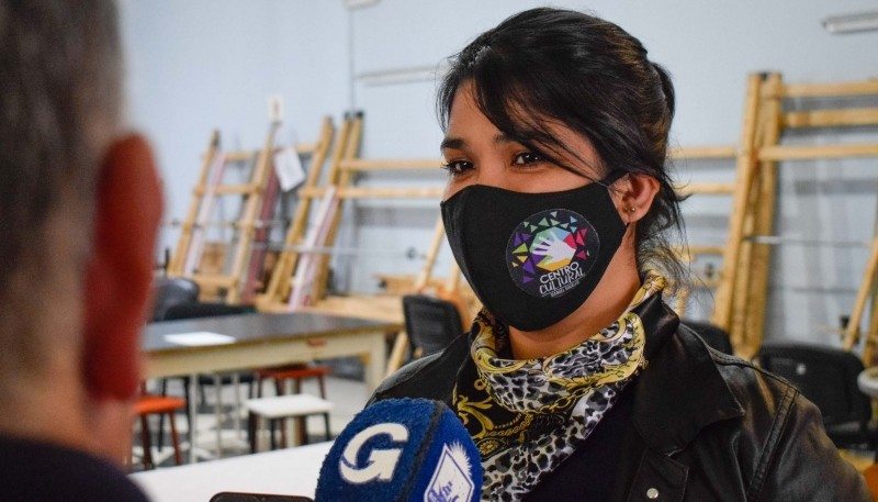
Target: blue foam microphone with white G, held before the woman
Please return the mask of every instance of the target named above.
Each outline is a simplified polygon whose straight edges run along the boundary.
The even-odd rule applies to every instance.
[[[477,502],[482,461],[439,401],[379,401],[341,431],[320,467],[316,502]]]

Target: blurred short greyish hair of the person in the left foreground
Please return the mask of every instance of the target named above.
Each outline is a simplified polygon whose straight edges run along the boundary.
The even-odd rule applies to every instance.
[[[40,365],[50,297],[81,286],[120,53],[112,0],[0,0],[0,372]]]

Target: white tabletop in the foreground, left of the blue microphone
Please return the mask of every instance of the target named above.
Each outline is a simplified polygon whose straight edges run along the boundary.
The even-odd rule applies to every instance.
[[[331,443],[131,475],[153,502],[207,502],[221,491],[314,498]]]

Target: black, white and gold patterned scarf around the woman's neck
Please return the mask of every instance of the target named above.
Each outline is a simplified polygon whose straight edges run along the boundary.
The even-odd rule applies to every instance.
[[[509,354],[506,327],[480,312],[453,406],[482,454],[482,500],[521,500],[588,437],[645,367],[645,333],[634,310],[664,286],[664,278],[648,277],[618,321],[538,359],[500,357]]]

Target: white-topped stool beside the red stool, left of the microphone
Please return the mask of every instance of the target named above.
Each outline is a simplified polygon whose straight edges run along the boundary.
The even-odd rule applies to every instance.
[[[333,410],[333,403],[325,399],[317,398],[311,394],[290,394],[290,395],[275,395],[273,398],[259,398],[249,399],[245,401],[244,406],[249,412],[248,432],[250,435],[250,451],[257,451],[257,432],[259,431],[258,422],[261,419],[268,421],[269,424],[269,440],[271,449],[275,449],[274,428],[278,422],[281,423],[283,428],[284,419],[303,419],[300,421],[302,427],[301,436],[305,437],[307,443],[307,433],[304,431],[304,419],[308,415],[323,415],[324,424],[326,425],[326,440],[331,438],[329,431],[329,412]]]

